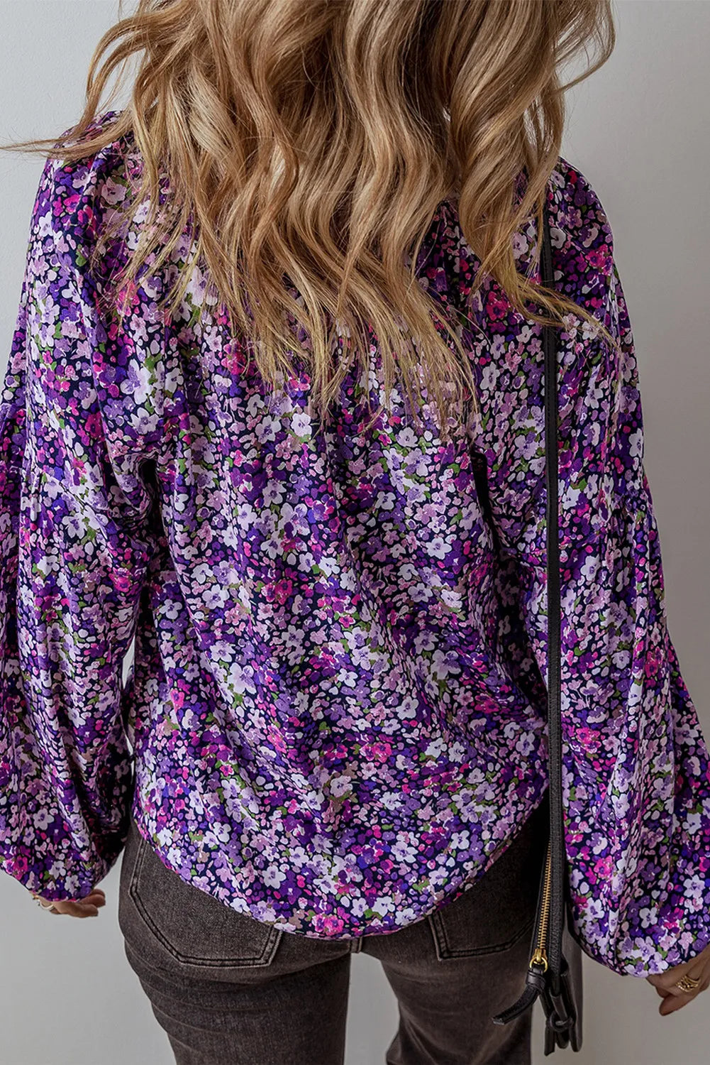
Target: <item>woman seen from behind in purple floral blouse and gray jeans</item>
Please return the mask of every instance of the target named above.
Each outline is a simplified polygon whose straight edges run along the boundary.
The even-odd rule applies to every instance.
[[[593,40],[588,75],[607,2],[142,0],[80,122],[11,146],[48,158],[0,423],[1,864],[84,917],[123,852],[177,1062],[342,1062],[357,951],[391,1065],[530,1061],[530,1013],[491,1015],[547,831],[546,321],[575,929],[662,1014],[710,984],[633,339],[559,155]]]

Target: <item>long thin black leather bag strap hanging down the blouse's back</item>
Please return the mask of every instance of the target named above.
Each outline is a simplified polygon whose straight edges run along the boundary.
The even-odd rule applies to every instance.
[[[541,255],[543,284],[554,286],[552,247],[549,233],[547,199]],[[547,731],[550,820],[550,913],[547,964],[552,988],[557,989],[562,964],[562,934],[566,922],[566,854],[562,807],[562,721],[561,721],[561,610],[560,544],[558,497],[558,382],[555,329],[543,328],[545,355],[545,482],[547,493]]]

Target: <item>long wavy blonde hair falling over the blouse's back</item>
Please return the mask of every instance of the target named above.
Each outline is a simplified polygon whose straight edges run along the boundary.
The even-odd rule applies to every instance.
[[[572,311],[615,346],[585,308],[529,280],[563,94],[609,59],[610,0],[139,0],[128,17],[121,7],[96,47],[70,132],[2,145],[73,161],[134,137],[143,178],[125,210],[148,199],[149,213],[114,298],[154,249],[155,233],[163,246],[153,272],[192,218],[194,256],[163,310],[175,311],[199,264],[274,391],[293,373],[294,351],[303,360],[310,410],[321,421],[353,358],[368,379],[368,326],[386,402],[399,380],[420,424],[424,386],[448,439],[462,400],[468,415],[479,410],[461,341],[461,327],[474,324],[465,313],[457,323],[441,314],[416,264],[436,208],[455,195],[461,232],[480,260],[470,298],[490,274],[531,321],[559,326]],[[591,42],[596,61],[562,85],[560,67]],[[111,103],[136,53],[130,104],[86,135],[108,79],[120,68]],[[162,209],[161,175],[170,190]],[[513,236],[532,212],[539,236],[523,275]],[[295,338],[290,315],[310,343]]]

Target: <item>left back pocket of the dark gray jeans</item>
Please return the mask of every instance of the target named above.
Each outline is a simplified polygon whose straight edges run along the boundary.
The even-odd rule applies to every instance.
[[[166,952],[181,965],[225,970],[269,965],[283,932],[237,913],[207,891],[183,881],[169,869],[145,839],[133,819],[121,867],[119,924],[129,946],[138,953],[145,932],[160,956]],[[127,913],[128,908],[128,913]],[[136,927],[135,918],[139,927]],[[136,943],[139,937],[139,949]]]

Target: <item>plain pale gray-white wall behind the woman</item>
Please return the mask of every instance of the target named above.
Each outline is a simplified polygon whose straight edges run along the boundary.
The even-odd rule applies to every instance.
[[[710,737],[710,3],[616,0],[614,11],[616,49],[571,92],[562,154],[590,179],[614,231],[640,365],[670,628]],[[116,0],[0,0],[0,141],[59,135],[76,120],[89,56],[117,12]],[[38,158],[0,153],[3,372],[40,169]],[[108,902],[98,920],[57,919],[0,876],[0,1065],[172,1065],[123,956],[118,866],[101,886]],[[645,980],[588,957],[584,978],[578,1065],[706,1065],[710,993],[661,1017]],[[353,955],[347,1065],[380,1065],[396,1019],[379,963]],[[534,1065],[542,1065],[541,1047],[536,1005]]]

